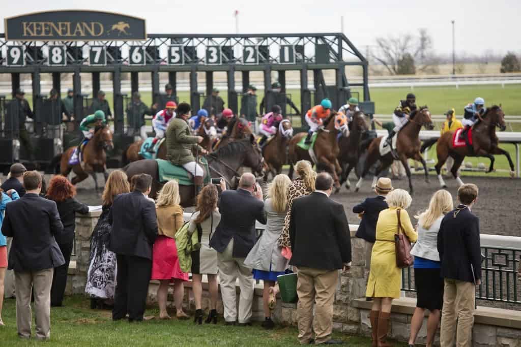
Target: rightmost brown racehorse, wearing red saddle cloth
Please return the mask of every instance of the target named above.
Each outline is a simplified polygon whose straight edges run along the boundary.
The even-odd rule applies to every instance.
[[[443,188],[446,188],[445,182],[443,181],[443,177],[441,176],[441,168],[447,158],[450,156],[454,159],[454,164],[452,164],[451,172],[458,186],[463,184],[461,178],[457,175],[457,170],[460,168],[461,163],[465,157],[487,157],[490,159],[490,167],[487,173],[492,172],[494,170],[494,156],[493,155],[504,155],[506,159],[508,159],[508,164],[510,164],[510,175],[514,176],[514,163],[512,162],[512,158],[510,154],[504,149],[499,148],[499,140],[495,135],[495,128],[499,127],[501,131],[506,129],[505,124],[505,113],[500,106],[494,105],[491,108],[487,109],[485,114],[483,114],[482,119],[480,119],[472,128],[472,146],[473,151],[467,147],[453,147],[452,137],[454,132],[449,131],[443,133],[437,141],[436,153],[438,155],[438,163],[435,165],[436,173],[438,174],[438,179],[440,181],[440,185]],[[426,144],[424,144],[426,146]],[[422,147],[423,148],[423,147]]]

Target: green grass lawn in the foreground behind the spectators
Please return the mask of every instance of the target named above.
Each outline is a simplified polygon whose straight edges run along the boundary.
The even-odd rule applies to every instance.
[[[259,323],[252,327],[217,325],[196,326],[192,320],[151,320],[129,324],[112,322],[109,311],[90,310],[89,300],[83,296],[67,297],[64,307],[51,309],[51,340],[53,346],[296,346],[297,331],[292,327],[264,330]],[[33,312],[34,314],[34,312]],[[158,310],[148,309],[146,315],[158,316]],[[0,345],[38,345],[21,340],[16,333],[15,300],[4,302],[2,317],[6,327],[0,328]],[[33,325],[34,333],[34,325]],[[335,339],[350,346],[370,346],[370,339],[334,334]],[[406,344],[395,344],[406,345]]]

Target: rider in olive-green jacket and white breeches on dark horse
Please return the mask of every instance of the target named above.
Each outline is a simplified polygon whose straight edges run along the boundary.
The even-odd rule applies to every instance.
[[[173,118],[166,129],[167,159],[174,165],[181,165],[194,176],[197,191],[203,186],[204,170],[196,163],[193,152],[205,155],[207,151],[199,146],[203,137],[193,136],[188,126],[190,104],[181,102],[177,108],[177,117]]]

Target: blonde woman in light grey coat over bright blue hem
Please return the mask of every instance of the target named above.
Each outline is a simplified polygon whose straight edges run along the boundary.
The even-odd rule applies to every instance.
[[[287,175],[277,175],[268,187],[268,199],[264,201],[267,214],[266,228],[244,260],[244,265],[253,268],[253,278],[264,281],[263,303],[265,319],[262,326],[272,329],[271,311],[275,302],[278,275],[283,275],[288,268],[288,260],[282,256],[277,240],[284,227],[284,218],[288,212],[288,187],[291,179]],[[270,298],[271,297],[271,298]],[[270,303],[268,301],[271,301]],[[271,306],[271,307],[270,307]]]

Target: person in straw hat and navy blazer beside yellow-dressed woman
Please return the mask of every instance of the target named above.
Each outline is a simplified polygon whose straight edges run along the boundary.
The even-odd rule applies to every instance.
[[[367,198],[364,202],[353,207],[353,212],[362,217],[355,236],[365,240],[365,269],[371,269],[371,253],[376,240],[376,222],[382,210],[388,208],[386,202],[387,194],[392,190],[391,179],[380,177],[375,186],[377,194],[374,198]]]

